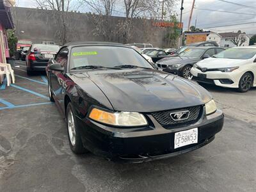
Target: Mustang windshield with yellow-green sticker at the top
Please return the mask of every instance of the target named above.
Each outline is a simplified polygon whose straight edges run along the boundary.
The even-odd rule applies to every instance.
[[[83,46],[71,50],[70,68],[83,66],[116,67],[136,65],[154,68],[141,54],[132,48],[115,46]]]

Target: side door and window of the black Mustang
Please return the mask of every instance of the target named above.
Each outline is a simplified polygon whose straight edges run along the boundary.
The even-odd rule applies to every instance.
[[[56,99],[58,102],[63,102],[64,100],[64,93],[65,93],[65,88],[66,88],[66,83],[65,79],[66,77],[66,70],[67,70],[67,60],[68,60],[68,48],[63,47],[54,60],[52,60],[52,64],[59,63],[62,67],[64,67],[64,71],[54,71],[50,70],[50,78],[51,78],[51,86],[52,86],[52,92],[56,96]],[[61,105],[62,106],[62,105]]]

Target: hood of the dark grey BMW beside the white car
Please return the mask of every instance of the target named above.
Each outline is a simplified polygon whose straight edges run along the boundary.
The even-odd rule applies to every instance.
[[[200,61],[200,58],[175,56],[175,57],[163,58],[163,59],[157,61],[157,63],[170,65],[170,64],[178,64],[178,63],[181,63],[181,64],[191,63],[191,62],[196,62],[196,61]]]

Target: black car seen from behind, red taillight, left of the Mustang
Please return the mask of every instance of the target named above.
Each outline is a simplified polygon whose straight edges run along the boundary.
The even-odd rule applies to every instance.
[[[59,45],[32,44],[26,54],[26,67],[28,76],[34,71],[45,70],[50,58],[59,51]]]

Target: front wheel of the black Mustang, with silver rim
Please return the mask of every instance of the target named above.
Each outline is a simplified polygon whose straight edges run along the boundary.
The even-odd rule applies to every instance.
[[[67,114],[67,129],[68,129],[69,145],[72,152],[74,152],[75,154],[83,154],[85,152],[88,152],[88,150],[86,150],[83,147],[81,134],[77,126],[76,115],[74,113],[74,108],[71,102],[68,103],[66,114]]]

